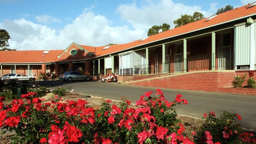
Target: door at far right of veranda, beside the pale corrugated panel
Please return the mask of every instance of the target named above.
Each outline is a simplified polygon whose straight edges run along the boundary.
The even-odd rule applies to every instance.
[[[231,70],[230,46],[218,48],[218,70]]]

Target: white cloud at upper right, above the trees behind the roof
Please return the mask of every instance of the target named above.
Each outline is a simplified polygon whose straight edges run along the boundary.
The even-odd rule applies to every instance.
[[[136,3],[123,4],[117,8],[124,20],[127,20],[135,29],[148,30],[153,25],[167,23],[174,28],[173,21],[181,15],[193,15],[194,12],[202,12],[206,17],[215,13],[216,3],[210,5],[208,11],[202,11],[201,6],[185,6],[181,3],[174,3],[172,0],[151,1],[144,0],[138,7]]]

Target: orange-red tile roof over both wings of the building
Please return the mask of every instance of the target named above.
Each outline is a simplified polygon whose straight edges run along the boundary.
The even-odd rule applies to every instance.
[[[98,47],[84,46],[84,45],[79,45],[79,46],[81,46],[88,52],[94,52],[95,56],[101,56],[101,55],[118,52],[121,50],[126,50],[129,48],[133,48],[143,44],[147,44],[150,42],[160,41],[161,39],[167,39],[170,37],[175,37],[177,35],[182,35],[184,33],[189,33],[192,31],[208,28],[211,26],[215,26],[224,22],[228,22],[230,20],[246,17],[249,15],[256,15],[256,6],[249,7],[249,5],[246,5],[246,6],[238,7],[236,9],[227,11],[225,13],[221,13],[217,17],[214,17],[208,21],[206,21],[208,18],[205,18],[202,20],[198,20],[196,22],[192,22],[190,24],[186,24],[184,26],[180,26],[178,28],[164,31],[156,35],[152,35],[143,41],[140,41],[139,39],[137,41],[133,41],[126,44],[111,45],[108,49],[102,49],[106,46],[98,46]],[[42,56],[43,51],[40,51],[40,50],[38,51],[36,50],[0,51],[0,63],[40,63],[41,61],[43,62],[58,61],[57,55],[61,54],[62,51],[63,50],[51,50],[48,54],[45,54],[45,57]]]

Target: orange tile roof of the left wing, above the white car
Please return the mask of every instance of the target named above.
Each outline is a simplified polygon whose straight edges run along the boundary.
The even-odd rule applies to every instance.
[[[49,50],[48,54],[44,54],[45,50],[18,50],[18,51],[0,51],[0,63],[45,63],[58,60],[63,50]]]

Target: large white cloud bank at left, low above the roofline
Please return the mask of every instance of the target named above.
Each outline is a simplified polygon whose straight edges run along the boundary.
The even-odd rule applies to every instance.
[[[90,46],[120,44],[145,35],[144,31],[129,30],[128,26],[113,27],[106,17],[88,11],[83,11],[71,24],[61,29],[59,34],[54,29],[24,18],[5,20],[0,23],[0,28],[9,32],[10,48],[17,50],[64,49],[71,42]]]

